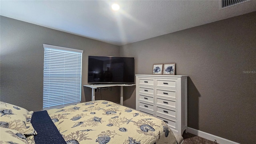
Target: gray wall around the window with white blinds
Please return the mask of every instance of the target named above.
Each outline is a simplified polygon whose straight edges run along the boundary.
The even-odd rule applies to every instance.
[[[0,17],[1,90],[0,100],[27,110],[42,110],[43,44],[84,50],[82,85],[87,84],[88,56],[119,56],[119,46],[60,32],[50,28]],[[118,88],[102,94],[102,98],[120,102]],[[90,94],[88,94],[90,98]],[[100,98],[99,92],[96,99]],[[120,98],[120,96],[119,96]],[[119,101],[118,101],[119,100]],[[82,88],[81,101],[85,101]]]

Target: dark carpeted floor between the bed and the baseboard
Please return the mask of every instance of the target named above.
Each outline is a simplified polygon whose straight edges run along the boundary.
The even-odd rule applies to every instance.
[[[183,133],[182,137],[184,138],[183,144],[217,144],[216,142],[207,140],[200,136],[196,136],[190,133]]]

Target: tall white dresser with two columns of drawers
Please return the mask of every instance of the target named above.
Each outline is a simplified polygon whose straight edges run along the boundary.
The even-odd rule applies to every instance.
[[[187,132],[187,76],[136,75],[136,110],[157,117],[174,133]]]

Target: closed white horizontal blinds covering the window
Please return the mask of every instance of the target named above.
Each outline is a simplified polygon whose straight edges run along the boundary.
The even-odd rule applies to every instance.
[[[81,100],[82,50],[44,46],[43,108]]]

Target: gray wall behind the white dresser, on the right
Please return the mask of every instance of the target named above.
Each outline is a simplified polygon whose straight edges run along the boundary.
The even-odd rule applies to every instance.
[[[256,142],[256,12],[124,45],[136,74],[176,63],[188,75],[188,126],[239,142]],[[135,102],[135,93],[124,103]]]

